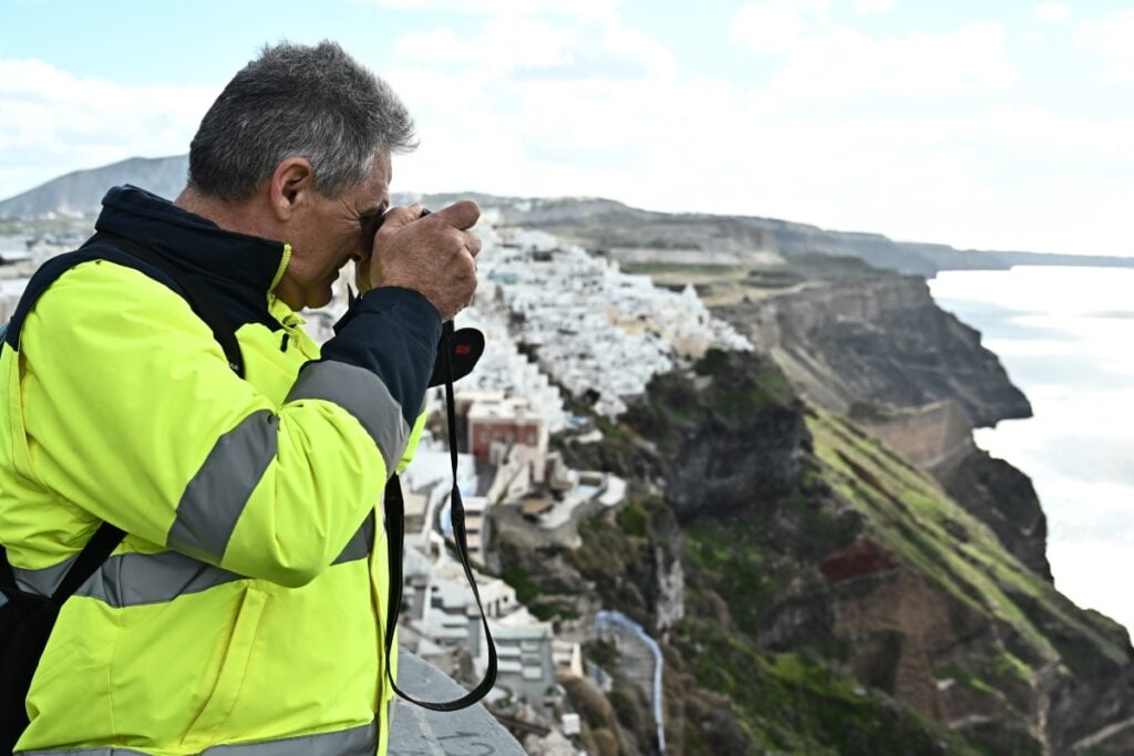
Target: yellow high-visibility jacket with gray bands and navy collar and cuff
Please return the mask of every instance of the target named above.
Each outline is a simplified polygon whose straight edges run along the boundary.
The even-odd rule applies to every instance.
[[[17,751],[384,754],[381,498],[421,431],[437,311],[370,291],[320,350],[272,294],[287,245],[134,187],[103,204],[100,231],[225,309],[246,376],[143,264],[29,283],[0,356],[0,543],[50,594],[100,523],[127,535],[64,605]]]

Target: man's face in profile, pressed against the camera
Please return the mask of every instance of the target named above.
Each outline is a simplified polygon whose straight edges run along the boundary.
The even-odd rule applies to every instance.
[[[382,151],[358,186],[335,197],[311,195],[286,239],[291,260],[279,295],[294,309],[329,303],[339,270],[370,257],[378,221],[390,205],[390,155]]]

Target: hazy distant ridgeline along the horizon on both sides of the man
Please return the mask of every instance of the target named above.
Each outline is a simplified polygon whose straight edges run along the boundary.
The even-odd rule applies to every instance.
[[[103,194],[117,184],[135,184],[163,197],[185,187],[187,155],[132,158],[120,163],[76,171],[0,202],[0,220],[43,218],[51,214],[98,212]],[[704,255],[706,263],[729,256],[756,262],[776,255],[836,255],[857,257],[874,267],[931,277],[941,270],[1008,269],[1012,265],[1132,266],[1132,257],[1046,255],[1027,252],[955,249],[943,244],[895,241],[881,233],[830,231],[806,223],[752,215],[659,213],[600,197],[498,197],[476,192],[396,194],[396,204],[421,201],[441,207],[472,197],[482,207],[497,209],[509,224],[540,228],[589,247],[632,250],[635,262],[689,262]],[[680,258],[678,258],[680,257]]]

